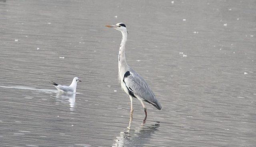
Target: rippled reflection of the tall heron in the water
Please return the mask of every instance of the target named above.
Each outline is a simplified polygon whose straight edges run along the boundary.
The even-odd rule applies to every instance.
[[[131,129],[130,118],[129,125],[124,132],[120,132],[119,136],[114,139],[112,147],[144,147],[148,140],[150,140],[153,133],[158,130],[160,122],[152,125],[142,123],[140,127]]]

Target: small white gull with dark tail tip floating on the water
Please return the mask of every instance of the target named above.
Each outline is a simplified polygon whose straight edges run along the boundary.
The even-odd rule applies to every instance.
[[[52,83],[52,85],[54,85],[54,87],[56,87],[58,91],[76,93],[76,84],[78,83],[78,81],[81,82],[81,80],[78,77],[74,77],[72,83],[69,86],[60,85],[53,81],[50,83]]]

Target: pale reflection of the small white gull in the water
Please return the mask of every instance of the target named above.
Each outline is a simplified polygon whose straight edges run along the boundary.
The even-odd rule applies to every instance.
[[[70,110],[75,110],[76,107],[76,93],[61,93],[57,92],[56,93],[56,99],[60,100],[61,102],[64,103],[69,103],[70,105]]]

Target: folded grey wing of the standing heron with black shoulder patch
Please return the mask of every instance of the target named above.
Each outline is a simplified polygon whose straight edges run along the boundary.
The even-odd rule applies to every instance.
[[[157,109],[160,110],[162,108],[146,81],[134,70],[127,71],[124,74],[123,81],[128,88],[130,95],[138,95],[144,101],[154,105]]]

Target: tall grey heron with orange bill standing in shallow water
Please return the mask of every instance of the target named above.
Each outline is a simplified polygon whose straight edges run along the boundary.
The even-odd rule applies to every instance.
[[[145,118],[147,118],[147,108],[143,101],[146,101],[156,107],[158,110],[162,109],[159,101],[156,99],[153,91],[150,89],[148,83],[140,76],[135,70],[133,70],[126,63],[125,58],[125,45],[127,41],[127,29],[124,23],[118,23],[115,25],[107,25],[108,28],[114,28],[122,33],[122,41],[118,54],[118,81],[121,84],[122,89],[129,95],[131,101],[131,116],[133,114],[133,99],[137,98],[142,107],[144,108]]]

